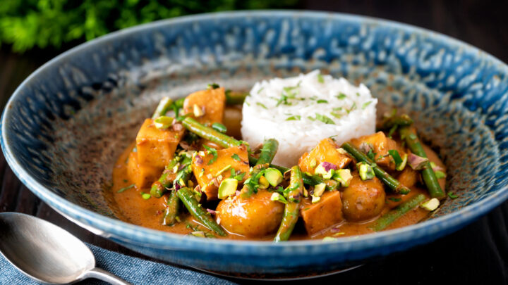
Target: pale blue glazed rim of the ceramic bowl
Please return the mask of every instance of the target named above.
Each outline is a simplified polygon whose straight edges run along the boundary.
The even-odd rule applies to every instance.
[[[460,210],[443,215],[442,217],[436,217],[432,220],[427,220],[422,223],[412,224],[407,227],[401,227],[398,229],[391,229],[383,232],[377,232],[373,234],[363,234],[360,236],[347,236],[337,239],[335,241],[322,242],[321,240],[303,240],[303,241],[289,241],[284,243],[273,243],[270,241],[240,241],[231,239],[198,239],[182,234],[173,234],[169,232],[163,232],[156,229],[150,229],[147,227],[141,227],[121,220],[116,220],[111,217],[100,215],[91,210],[81,207],[80,205],[74,204],[71,201],[55,194],[47,187],[37,182],[34,177],[28,175],[25,167],[20,164],[16,156],[14,155],[8,132],[6,131],[6,125],[8,120],[11,119],[11,104],[15,101],[16,97],[22,93],[23,89],[32,82],[38,75],[44,73],[47,69],[58,66],[66,58],[73,56],[75,53],[85,53],[89,49],[93,49],[95,46],[106,44],[107,42],[115,41],[119,37],[127,37],[138,32],[145,30],[151,30],[157,27],[170,27],[179,23],[189,23],[201,20],[221,20],[224,18],[253,18],[253,17],[279,17],[279,18],[327,18],[329,20],[339,19],[348,20],[356,23],[369,23],[375,25],[382,25],[385,27],[391,27],[396,30],[404,30],[406,32],[416,32],[419,34],[425,34],[426,37],[433,37],[434,39],[446,42],[448,46],[461,47],[467,51],[472,51],[476,54],[476,57],[483,57],[486,61],[494,63],[497,68],[508,73],[508,66],[502,61],[495,58],[485,51],[482,51],[471,44],[462,42],[459,39],[454,39],[447,35],[439,32],[434,32],[422,27],[416,27],[409,24],[399,23],[392,20],[384,20],[381,18],[373,18],[363,15],[353,15],[347,13],[334,13],[334,12],[323,12],[323,11],[299,11],[299,10],[253,10],[253,11],[228,11],[219,13],[202,13],[198,15],[187,15],[183,17],[158,20],[152,23],[146,23],[135,27],[126,28],[116,32],[111,32],[97,39],[93,39],[90,42],[85,42],[73,49],[61,53],[52,60],[44,63],[40,68],[37,68],[35,72],[32,72],[14,91],[10,99],[6,103],[4,111],[1,116],[1,137],[0,144],[1,149],[4,152],[4,156],[8,165],[13,170],[14,174],[30,189],[34,194],[39,196],[45,203],[48,203],[52,208],[56,208],[59,213],[65,214],[66,217],[72,217],[78,219],[80,222],[84,222],[87,226],[93,229],[99,229],[99,231],[109,234],[111,237],[116,237],[121,240],[135,241],[137,239],[143,239],[143,246],[149,247],[169,247],[175,249],[192,249],[193,251],[202,252],[214,252],[224,253],[224,246],[228,246],[228,253],[246,253],[245,248],[252,247],[258,250],[260,247],[266,248],[267,251],[256,252],[265,255],[281,255],[282,253],[291,253],[291,248],[298,248],[301,246],[311,246],[313,249],[317,249],[319,252],[325,252],[333,250],[334,248],[347,248],[348,250],[355,251],[365,248],[378,247],[387,244],[407,242],[411,240],[421,239],[423,237],[429,237],[431,239],[437,239],[437,237],[445,234],[446,229],[459,229],[459,227],[473,222],[476,218],[484,215],[488,211],[500,205],[508,198],[508,186],[501,187],[495,193],[490,194],[488,197],[481,201],[466,205]],[[499,149],[499,146],[497,146]],[[84,221],[83,221],[84,220]],[[75,222],[73,220],[73,222]],[[449,232],[449,231],[448,231]],[[143,234],[141,234],[143,233]],[[422,242],[421,242],[422,243]],[[347,246],[346,246],[347,245]],[[415,244],[416,245],[416,244]],[[276,248],[284,248],[284,251],[272,251]],[[287,251],[286,249],[289,249]]]

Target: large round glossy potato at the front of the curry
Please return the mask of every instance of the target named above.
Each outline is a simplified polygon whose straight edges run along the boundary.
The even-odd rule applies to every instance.
[[[217,205],[217,222],[234,234],[262,238],[277,232],[284,204],[272,201],[272,193],[260,190],[249,198],[229,197]]]

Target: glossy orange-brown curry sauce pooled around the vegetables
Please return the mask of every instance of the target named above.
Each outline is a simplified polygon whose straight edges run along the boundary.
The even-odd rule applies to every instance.
[[[113,186],[109,194],[111,195],[111,203],[116,209],[116,215],[126,222],[130,222],[131,224],[137,224],[142,227],[148,227],[151,229],[158,229],[164,232],[173,232],[176,234],[189,234],[195,231],[206,231],[206,228],[202,225],[198,224],[193,220],[193,217],[188,213],[184,213],[180,215],[181,222],[175,224],[172,227],[164,226],[161,224],[162,215],[164,212],[164,208],[166,205],[167,198],[163,196],[162,198],[149,198],[147,200],[142,198],[143,193],[150,193],[150,189],[136,189],[133,186],[126,191],[118,193],[120,189],[126,186],[130,186],[133,182],[130,181],[127,175],[127,158],[128,154],[131,152],[134,144],[126,148],[123,154],[116,161],[114,170],[113,170]],[[425,147],[425,152],[430,161],[436,163],[440,167],[444,168],[443,163],[437,157],[437,154],[432,151],[427,146]],[[445,179],[439,179],[442,188],[444,189],[444,181]],[[411,198],[412,196],[424,194],[428,197],[428,192],[425,189],[421,189],[419,187],[411,187],[411,193],[404,197],[403,201],[407,198]],[[381,215],[387,213],[390,208],[396,207],[400,202],[390,201],[389,198],[393,197],[392,195],[387,194],[387,204],[385,209],[382,211]],[[211,203],[213,204],[213,202]],[[214,208],[214,204],[210,205],[208,208]],[[424,220],[428,216],[429,212],[427,210],[423,210],[422,208],[415,208],[403,217],[399,218],[399,220],[395,221],[391,224],[387,229],[394,229],[397,227],[405,227],[410,224],[416,224],[421,220]],[[356,236],[359,234],[369,234],[373,233],[373,230],[368,227],[373,224],[373,222],[377,219],[375,217],[373,220],[364,221],[364,222],[341,222],[340,224],[336,224],[333,227],[319,232],[313,236],[308,236],[305,229],[302,227],[300,222],[296,225],[294,233],[291,235],[291,240],[298,239],[322,239],[325,236]],[[219,237],[219,236],[217,236]],[[222,237],[220,237],[222,238]],[[237,234],[229,234],[222,239],[247,239],[244,236],[239,236]],[[273,236],[265,236],[262,239],[258,240],[267,240],[271,241]]]

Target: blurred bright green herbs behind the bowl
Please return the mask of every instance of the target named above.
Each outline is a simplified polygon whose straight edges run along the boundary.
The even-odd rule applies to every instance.
[[[299,0],[5,0],[0,45],[23,53],[59,49],[114,30],[181,15],[243,9],[294,8]]]

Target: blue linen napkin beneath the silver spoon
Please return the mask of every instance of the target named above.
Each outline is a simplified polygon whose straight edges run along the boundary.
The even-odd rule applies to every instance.
[[[107,251],[91,244],[97,267],[107,270],[132,284],[234,284],[209,274],[165,265],[162,263],[133,258],[121,253]],[[0,285],[40,284],[26,277],[0,254]],[[106,284],[103,281],[87,279],[79,284]]]

